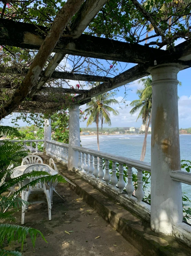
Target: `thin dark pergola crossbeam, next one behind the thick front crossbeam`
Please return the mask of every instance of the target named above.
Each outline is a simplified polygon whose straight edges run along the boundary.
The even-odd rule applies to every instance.
[[[19,68],[1,68],[0,73],[5,74],[27,74],[28,69]],[[45,71],[41,72],[41,76],[44,76]],[[64,80],[75,80],[75,81],[87,81],[87,82],[110,82],[112,78],[103,76],[93,76],[88,74],[78,74],[71,72],[53,71],[51,79],[64,79]]]

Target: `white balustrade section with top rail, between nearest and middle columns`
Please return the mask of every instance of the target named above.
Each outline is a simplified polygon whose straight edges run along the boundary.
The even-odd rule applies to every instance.
[[[106,185],[110,185],[119,193],[122,193],[125,188],[124,181],[124,164],[128,167],[128,183],[126,185],[127,197],[137,201],[138,203],[142,202],[144,197],[144,191],[142,187],[142,170],[149,171],[151,170],[151,166],[147,162],[142,162],[139,160],[134,160],[126,157],[117,157],[111,154],[103,153],[97,150],[87,149],[83,147],[74,146],[74,150],[78,151],[79,162],[78,169],[82,169],[83,174],[88,174],[88,176],[94,176],[95,178],[99,177],[98,182],[105,182]],[[85,162],[85,154],[86,154],[86,162]],[[82,155],[82,157],[81,157]],[[99,158],[99,162],[98,162]],[[82,159],[82,161],[81,161]],[[103,168],[103,160],[105,161],[105,165]],[[112,161],[112,170],[109,167],[109,163]],[[117,163],[119,166],[117,167]],[[99,167],[98,167],[99,164]],[[133,196],[134,192],[134,184],[132,181],[133,178],[133,169],[137,169],[138,174],[138,182],[137,182],[137,190],[135,196]],[[112,171],[112,176],[110,172]],[[117,175],[118,174],[118,175]],[[119,178],[119,180],[118,180]]]

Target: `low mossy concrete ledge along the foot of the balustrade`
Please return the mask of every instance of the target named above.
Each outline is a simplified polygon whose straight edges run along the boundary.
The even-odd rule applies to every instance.
[[[41,156],[48,163],[48,156]],[[125,239],[145,256],[190,256],[191,250],[174,237],[156,235],[149,222],[138,218],[124,206],[102,194],[76,172],[67,171],[57,163],[61,174],[71,180],[76,187],[69,186],[96,210],[106,221],[110,222]],[[101,238],[102,239],[102,238]]]

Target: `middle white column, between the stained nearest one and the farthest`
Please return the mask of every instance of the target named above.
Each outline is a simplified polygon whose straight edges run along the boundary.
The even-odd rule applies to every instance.
[[[68,170],[78,168],[78,151],[73,146],[80,146],[80,111],[79,105],[69,109],[69,149],[68,149]]]

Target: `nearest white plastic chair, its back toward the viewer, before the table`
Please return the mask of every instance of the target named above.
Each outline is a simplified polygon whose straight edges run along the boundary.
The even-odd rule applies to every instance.
[[[34,171],[47,171],[47,173],[51,174],[51,170],[49,169],[49,167],[46,165],[42,165],[42,164],[28,166],[25,169],[23,174],[31,173],[33,170]],[[39,176],[39,177],[42,177],[42,176]],[[30,182],[32,180],[38,179],[39,177],[30,178]],[[46,200],[35,201],[36,196],[34,197],[34,201],[30,200],[30,198],[29,198],[30,195],[32,197],[32,195],[40,195],[40,194],[45,194]],[[22,191],[21,199],[24,201],[27,201],[31,204],[44,203],[47,201],[48,216],[49,216],[49,220],[51,220],[51,200],[50,200],[49,191],[48,191],[48,189],[46,189],[44,182],[38,182],[35,186],[29,186],[28,191],[26,191],[26,190]],[[26,204],[23,204],[22,205],[22,220],[21,220],[22,224],[24,224],[25,212],[26,212]]]

